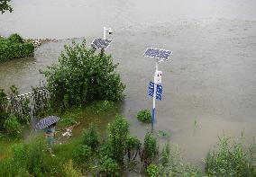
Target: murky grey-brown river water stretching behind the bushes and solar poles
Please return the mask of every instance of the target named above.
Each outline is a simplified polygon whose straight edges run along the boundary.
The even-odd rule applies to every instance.
[[[256,1],[253,0],[13,0],[14,13],[0,15],[0,34],[59,39],[36,49],[34,58],[0,64],[0,85],[21,93],[44,80],[39,69],[57,62],[70,38],[88,44],[112,27],[107,53],[119,62],[126,84],[123,114],[142,137],[151,126],[135,118],[151,109],[148,84],[155,66],[148,47],[170,49],[157,102],[155,131],[171,132],[181,154],[203,166],[218,136],[256,136]]]

